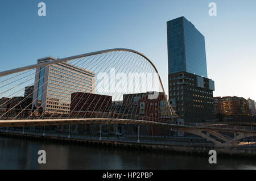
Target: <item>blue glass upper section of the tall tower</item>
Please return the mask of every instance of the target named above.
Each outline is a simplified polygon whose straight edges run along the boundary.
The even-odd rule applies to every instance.
[[[176,18],[167,22],[168,73],[186,71],[207,78],[204,35],[191,22]]]

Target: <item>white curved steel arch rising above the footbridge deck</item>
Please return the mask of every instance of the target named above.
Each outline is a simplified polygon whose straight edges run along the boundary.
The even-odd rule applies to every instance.
[[[136,50],[133,50],[133,49],[113,48],[113,49],[100,50],[100,51],[97,51],[97,52],[90,52],[90,53],[79,54],[79,55],[76,55],[76,56],[71,56],[71,57],[66,57],[66,58],[60,58],[60,59],[53,60],[53,61],[42,62],[42,63],[40,63],[40,64],[34,64],[34,65],[30,65],[30,66],[23,66],[22,68],[17,68],[17,69],[11,69],[11,70],[7,70],[7,71],[2,71],[2,72],[0,72],[0,77],[6,76],[6,75],[10,75],[10,74],[14,74],[14,73],[19,73],[20,71],[26,71],[26,70],[36,69],[36,68],[40,68],[40,67],[42,67],[42,66],[47,66],[47,65],[57,64],[57,63],[61,63],[61,62],[69,61],[69,60],[74,60],[74,59],[76,59],[76,58],[89,57],[89,56],[93,56],[93,55],[96,55],[96,54],[109,53],[109,52],[117,52],[117,51],[136,53],[136,54],[139,54],[140,56],[144,57],[148,62],[150,62],[150,64],[151,64],[152,67],[155,69],[156,73],[158,74],[158,79],[159,79],[160,85],[161,85],[162,90],[163,90],[164,99],[166,99],[167,106],[168,106],[168,109],[170,110],[170,113],[171,113],[172,116],[173,116],[173,113],[174,113],[174,116],[175,116],[176,118],[178,118],[177,114],[174,112],[174,110],[172,109],[170,103],[169,103],[168,100],[167,100],[166,92],[164,91],[164,87],[163,87],[163,83],[162,83],[162,79],[160,78],[160,75],[159,75],[158,70],[156,69],[156,66],[155,66],[155,65],[153,64],[153,62],[152,62],[148,57],[146,57],[144,54],[142,54],[142,53],[140,53],[140,52],[138,52],[138,51],[136,51]]]

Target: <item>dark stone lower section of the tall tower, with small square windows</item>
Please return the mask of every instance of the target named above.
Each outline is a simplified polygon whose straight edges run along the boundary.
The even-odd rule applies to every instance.
[[[169,75],[169,102],[188,123],[212,121],[214,119],[214,82],[185,71]]]

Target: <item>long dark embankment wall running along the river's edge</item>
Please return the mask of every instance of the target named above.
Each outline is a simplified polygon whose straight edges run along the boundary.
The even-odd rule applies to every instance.
[[[76,144],[76,145],[91,145],[99,147],[121,148],[121,149],[137,149],[149,151],[168,151],[184,154],[207,154],[209,150],[216,150],[218,155],[242,156],[242,157],[256,157],[255,148],[222,148],[222,147],[205,147],[205,146],[181,146],[181,145],[158,145],[145,144],[139,142],[118,142],[110,140],[84,140],[79,138],[65,138],[53,136],[38,136],[31,134],[20,134],[10,132],[0,132],[0,136],[7,136],[13,138],[23,138],[35,141],[54,141],[62,144]]]

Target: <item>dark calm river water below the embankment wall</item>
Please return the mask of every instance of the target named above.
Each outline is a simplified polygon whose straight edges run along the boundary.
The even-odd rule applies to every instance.
[[[46,151],[46,164],[38,151]],[[63,145],[0,137],[0,169],[256,169],[256,158],[218,157]]]

